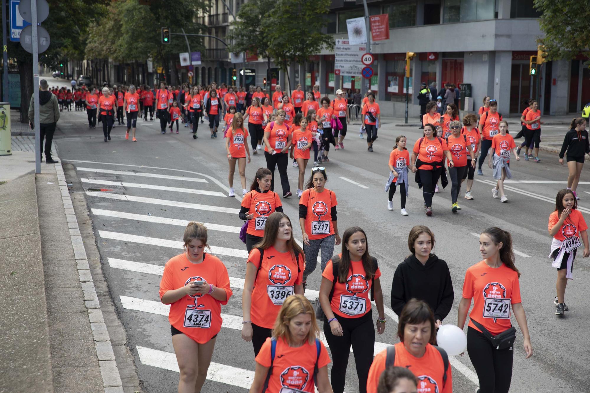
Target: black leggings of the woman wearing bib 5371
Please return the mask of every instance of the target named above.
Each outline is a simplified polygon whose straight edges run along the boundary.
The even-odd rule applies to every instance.
[[[356,374],[359,377],[359,393],[366,393],[369,368],[373,362],[375,349],[375,327],[373,327],[372,311],[360,318],[344,318],[335,315],[342,326],[342,336],[332,334],[332,329],[324,320],[324,334],[332,352],[332,373],[330,382],[334,393],[343,393],[346,382],[346,368],[350,356],[350,345],[355,356]]]

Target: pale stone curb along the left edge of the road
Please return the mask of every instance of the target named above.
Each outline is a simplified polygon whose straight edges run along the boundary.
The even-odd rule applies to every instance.
[[[123,393],[123,382],[117,368],[115,361],[113,346],[110,342],[109,332],[107,331],[106,323],[104,323],[103,313],[100,309],[99,297],[96,294],[96,288],[90,274],[90,266],[84,249],[84,243],[78,228],[78,220],[72,200],[70,198],[70,191],[68,191],[67,182],[65,181],[64,169],[61,166],[61,160],[55,165],[55,172],[57,173],[57,181],[60,186],[61,199],[64,204],[65,217],[70,228],[70,240],[74,249],[74,256],[76,257],[76,265],[78,270],[78,277],[80,279],[80,286],[84,294],[84,304],[88,311],[90,321],[90,328],[94,338],[94,348],[99,359],[100,374],[103,378],[103,386],[105,393]]]

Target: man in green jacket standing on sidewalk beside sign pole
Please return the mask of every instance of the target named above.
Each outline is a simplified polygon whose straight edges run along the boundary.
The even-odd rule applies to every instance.
[[[43,148],[43,139],[45,139],[45,162],[57,163],[59,161],[51,158],[51,141],[53,140],[57,120],[60,120],[60,106],[55,94],[48,91],[48,89],[47,81],[41,79],[39,81],[39,132],[41,133],[41,148]],[[34,116],[35,101],[33,94],[31,96],[31,103],[29,104],[29,125],[31,129],[34,124]],[[41,161],[43,161],[43,155],[41,155]]]

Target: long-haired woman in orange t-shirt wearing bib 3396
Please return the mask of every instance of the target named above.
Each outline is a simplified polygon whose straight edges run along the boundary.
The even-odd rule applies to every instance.
[[[252,341],[254,356],[271,336],[283,302],[294,293],[303,294],[304,266],[305,257],[293,238],[291,220],[284,213],[274,212],[266,220],[263,239],[250,251],[246,263],[242,339]]]

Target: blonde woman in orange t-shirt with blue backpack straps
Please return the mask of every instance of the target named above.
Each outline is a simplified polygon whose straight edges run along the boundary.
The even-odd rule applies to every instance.
[[[320,329],[312,303],[302,294],[287,297],[274,322],[273,336],[256,356],[250,393],[296,388],[332,393],[327,365],[330,356],[319,339]]]

